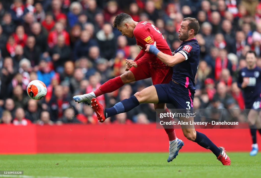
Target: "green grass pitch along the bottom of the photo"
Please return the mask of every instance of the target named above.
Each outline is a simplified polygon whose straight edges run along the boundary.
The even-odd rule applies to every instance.
[[[261,154],[228,152],[223,166],[210,152],[180,152],[168,163],[168,153],[0,155],[0,170],[23,170],[22,178],[68,177],[260,177]],[[0,177],[8,177],[0,175]]]

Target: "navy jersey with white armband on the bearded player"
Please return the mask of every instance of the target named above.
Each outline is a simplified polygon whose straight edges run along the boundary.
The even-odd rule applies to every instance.
[[[188,41],[183,41],[175,53],[181,53],[186,60],[173,66],[172,79],[190,88],[195,93],[195,76],[198,70],[199,63],[199,45],[198,41],[193,38]]]

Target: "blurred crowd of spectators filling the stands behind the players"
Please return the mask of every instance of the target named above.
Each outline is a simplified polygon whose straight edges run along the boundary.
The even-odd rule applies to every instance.
[[[125,59],[139,53],[135,38],[122,36],[112,23],[125,12],[134,21],[154,24],[174,51],[185,17],[197,18],[200,62],[193,108],[244,108],[237,72],[254,50],[261,66],[261,3],[258,0],[1,0],[0,118],[4,124],[96,124],[90,106],[72,96],[98,88],[125,72]],[[41,80],[43,100],[26,87]],[[98,97],[104,107],[150,86],[132,82]],[[173,108],[167,105],[168,108]],[[153,104],[141,104],[106,123],[155,122]]]

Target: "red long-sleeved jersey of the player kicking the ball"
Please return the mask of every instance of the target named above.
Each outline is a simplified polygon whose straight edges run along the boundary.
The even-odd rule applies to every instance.
[[[137,41],[137,45],[140,47],[141,51],[138,56],[134,59],[136,64],[139,66],[143,63],[149,62],[151,65],[158,68],[167,68],[168,66],[159,60],[154,54],[145,52],[146,44],[153,45],[156,41],[157,48],[171,56],[171,50],[167,44],[166,39],[163,37],[162,33],[153,24],[147,21],[139,22],[133,30],[133,34]]]

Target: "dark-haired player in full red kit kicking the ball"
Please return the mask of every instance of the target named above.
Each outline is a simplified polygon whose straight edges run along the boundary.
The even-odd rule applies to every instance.
[[[164,39],[162,33],[153,24],[147,21],[135,22],[132,17],[125,13],[120,13],[116,16],[113,27],[117,28],[122,35],[133,38],[137,41],[137,45],[141,51],[135,60],[126,59],[126,71],[121,76],[110,79],[109,81],[102,84],[99,88],[91,93],[74,96],[73,99],[76,102],[85,102],[91,104],[91,99],[103,95],[105,93],[111,93],[122,87],[126,83],[138,81],[145,78],[152,79],[153,84],[168,83],[171,80],[172,68],[161,62],[154,54],[145,52],[146,44],[153,44],[155,41],[158,44],[158,48],[165,54],[171,55],[170,48],[167,41]],[[132,65],[132,66],[130,66]],[[164,112],[169,112],[166,108],[166,104],[156,104],[155,109],[165,109]],[[169,118],[165,121],[173,120]],[[100,120],[103,122],[104,120]],[[164,127],[169,137],[169,144],[177,138],[173,126]],[[169,147],[170,157],[173,159],[171,154],[171,147]]]

